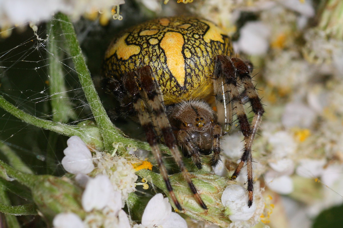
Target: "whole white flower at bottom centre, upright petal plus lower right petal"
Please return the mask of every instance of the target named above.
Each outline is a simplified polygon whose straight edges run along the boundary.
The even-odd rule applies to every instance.
[[[142,225],[145,228],[187,228],[186,220],[177,213],[171,212],[168,198],[163,198],[161,193],[151,198],[146,205],[142,216]]]

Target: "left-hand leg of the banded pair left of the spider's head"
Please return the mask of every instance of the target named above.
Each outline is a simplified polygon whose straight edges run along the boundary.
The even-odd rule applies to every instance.
[[[157,142],[158,137],[154,130],[154,124],[150,119],[148,109],[140,94],[140,88],[138,86],[137,81],[135,81],[135,78],[137,78],[137,74],[135,72],[130,72],[126,76],[123,77],[123,83],[128,90],[128,94],[131,96],[133,107],[136,111],[136,114],[138,115],[142,128],[145,131],[146,140],[151,147],[151,151],[153,152],[153,155],[156,159],[159,170],[166,183],[166,187],[169,192],[169,195],[171,199],[173,200],[177,209],[182,211],[182,207],[174,194],[173,188],[171,187],[171,184],[168,178],[167,169],[162,160],[161,150],[159,149],[158,142]]]

